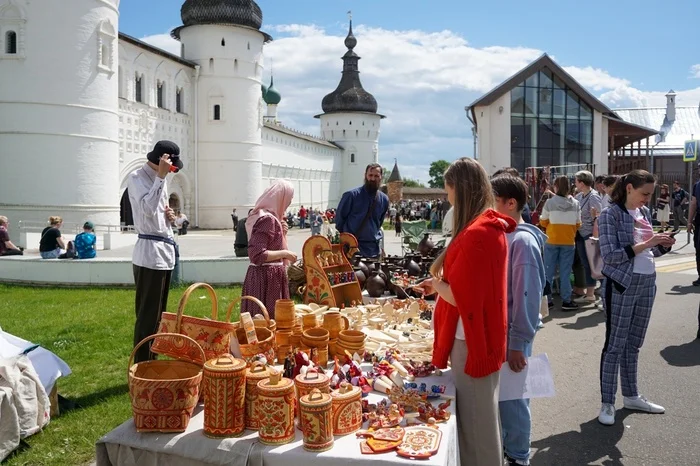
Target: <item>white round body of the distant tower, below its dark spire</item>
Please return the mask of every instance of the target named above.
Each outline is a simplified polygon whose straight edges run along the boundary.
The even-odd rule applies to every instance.
[[[381,117],[374,113],[326,113],[320,119],[323,139],[343,148],[341,193],[362,185],[367,165],[379,161]]]

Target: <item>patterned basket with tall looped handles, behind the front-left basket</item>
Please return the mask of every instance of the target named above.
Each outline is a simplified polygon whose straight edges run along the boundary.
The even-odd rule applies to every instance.
[[[198,288],[204,288],[211,298],[211,319],[202,319],[183,315],[187,301],[192,292]],[[214,288],[206,283],[195,283],[185,290],[177,313],[164,312],[160,318],[158,333],[180,333],[193,339],[197,345],[192,345],[189,341],[179,341],[174,338],[159,336],[151,347],[151,351],[164,354],[176,359],[192,361],[197,364],[204,364],[205,361],[229,353],[231,337],[236,331],[237,325],[229,322],[231,309],[226,314],[225,321],[218,319],[218,301]],[[199,360],[199,347],[204,350],[205,358]]]

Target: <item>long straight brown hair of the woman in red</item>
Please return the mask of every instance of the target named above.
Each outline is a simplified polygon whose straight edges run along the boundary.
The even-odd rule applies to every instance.
[[[452,216],[452,237],[456,238],[476,217],[493,207],[493,189],[489,176],[479,162],[462,157],[445,171],[445,185],[455,190],[455,205]],[[433,277],[442,277],[442,264],[445,262],[445,249],[430,266]]]

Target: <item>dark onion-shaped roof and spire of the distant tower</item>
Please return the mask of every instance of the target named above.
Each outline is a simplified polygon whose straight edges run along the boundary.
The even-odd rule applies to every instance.
[[[352,33],[352,21],[350,31],[345,38],[345,46],[348,51],[343,56],[343,77],[335,91],[331,92],[321,101],[324,113],[337,112],[368,112],[377,113],[377,100],[367,92],[360,82],[358,62],[360,57],[353,51],[357,45],[357,39]]]

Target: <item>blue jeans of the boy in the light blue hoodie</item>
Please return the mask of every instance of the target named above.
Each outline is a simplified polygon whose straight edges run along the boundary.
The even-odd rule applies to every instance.
[[[528,358],[532,356],[532,342],[525,345],[523,352]],[[530,400],[501,401],[498,409],[501,413],[503,450],[508,457],[522,464],[530,464]]]

